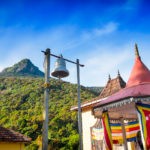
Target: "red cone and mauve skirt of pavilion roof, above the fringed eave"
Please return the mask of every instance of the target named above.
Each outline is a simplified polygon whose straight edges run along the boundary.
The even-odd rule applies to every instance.
[[[126,87],[111,95],[106,100],[99,102],[96,107],[126,98],[150,96],[150,71],[142,62],[137,45],[135,45],[135,55],[135,63]]]

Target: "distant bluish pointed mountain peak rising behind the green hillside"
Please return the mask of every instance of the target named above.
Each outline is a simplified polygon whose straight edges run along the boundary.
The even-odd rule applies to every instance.
[[[29,59],[23,59],[0,72],[0,76],[32,76],[43,77],[44,73],[38,69]]]

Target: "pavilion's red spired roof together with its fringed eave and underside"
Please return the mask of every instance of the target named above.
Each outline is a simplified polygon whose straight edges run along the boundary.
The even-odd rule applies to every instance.
[[[115,117],[115,115],[113,116],[114,111],[119,113],[119,108],[120,113],[125,118],[137,118],[137,115],[134,111],[135,103],[139,101],[149,103],[150,71],[141,60],[137,44],[135,44],[135,56],[135,63],[125,88],[121,89],[115,94],[112,94],[104,101],[100,101],[97,105],[94,106],[95,112],[97,110],[108,110],[117,107],[116,110],[112,110],[110,115],[112,118]],[[119,117],[119,115],[116,117]]]

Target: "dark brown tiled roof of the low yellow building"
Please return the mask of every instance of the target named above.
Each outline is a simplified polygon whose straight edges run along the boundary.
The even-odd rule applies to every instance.
[[[0,142],[30,142],[31,139],[15,132],[11,129],[6,129],[0,126]]]

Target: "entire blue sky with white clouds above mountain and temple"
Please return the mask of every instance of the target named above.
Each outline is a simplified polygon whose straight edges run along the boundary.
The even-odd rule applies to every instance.
[[[127,82],[138,44],[150,68],[150,1],[148,0],[1,0],[0,71],[28,58],[44,71],[46,48],[80,64],[80,83],[105,86],[118,70]],[[50,58],[50,72],[55,57]],[[67,63],[76,83],[76,65]]]

